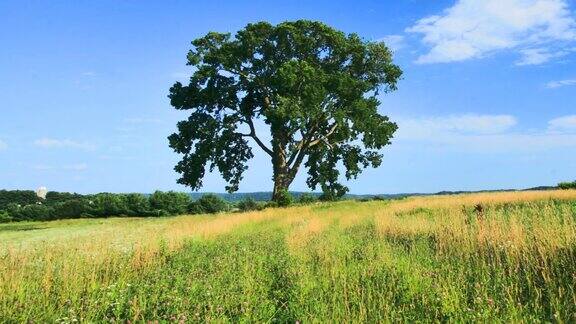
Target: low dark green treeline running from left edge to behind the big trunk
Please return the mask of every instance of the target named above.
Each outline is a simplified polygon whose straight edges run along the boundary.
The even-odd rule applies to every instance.
[[[286,193],[278,202],[261,202],[245,197],[234,203],[215,194],[204,194],[197,199],[182,192],[156,191],[139,193],[77,193],[50,191],[39,198],[31,190],[0,190],[0,223],[12,221],[44,221],[66,218],[143,217],[182,214],[210,214],[229,210],[250,211],[266,207],[283,207],[293,203],[310,203],[317,197],[301,194],[293,199]]]

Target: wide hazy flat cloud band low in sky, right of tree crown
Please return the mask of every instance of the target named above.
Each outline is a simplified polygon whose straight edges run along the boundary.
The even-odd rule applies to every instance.
[[[570,128],[575,122],[576,116],[561,117],[547,129],[522,132],[514,131],[516,118],[509,115],[401,118],[396,142],[480,153],[576,148],[576,132],[566,131],[576,129]]]

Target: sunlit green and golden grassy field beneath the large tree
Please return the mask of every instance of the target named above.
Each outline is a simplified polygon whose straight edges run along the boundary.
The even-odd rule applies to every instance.
[[[0,225],[3,321],[575,314],[576,190]]]

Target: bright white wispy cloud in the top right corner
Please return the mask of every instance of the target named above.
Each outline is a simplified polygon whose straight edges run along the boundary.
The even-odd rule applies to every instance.
[[[519,64],[526,65],[566,55],[558,44],[576,40],[576,20],[565,0],[458,0],[406,31],[422,34],[431,47],[417,63],[464,61],[513,49],[523,51]]]

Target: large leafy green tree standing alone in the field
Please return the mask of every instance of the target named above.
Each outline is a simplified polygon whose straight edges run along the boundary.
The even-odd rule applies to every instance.
[[[209,167],[229,192],[238,190],[253,157],[249,140],[270,156],[273,199],[303,165],[310,188],[337,197],[347,191],[339,164],[347,179],[381,164],[379,149],[397,126],[378,113],[377,96],[395,90],[402,74],[384,43],[299,20],[249,24],[234,37],[211,32],[192,44],[194,73],[169,95],[172,106],[190,111],[169,137],[183,155],[179,183],[199,189]]]

